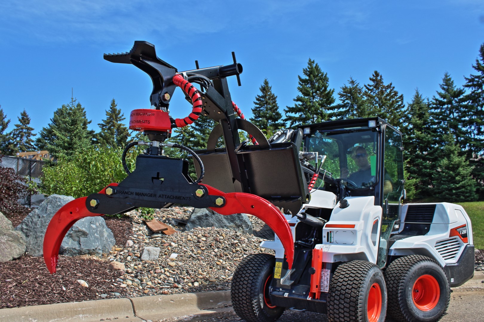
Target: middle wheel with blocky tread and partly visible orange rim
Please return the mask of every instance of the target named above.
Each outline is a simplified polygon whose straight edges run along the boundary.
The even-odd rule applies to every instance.
[[[328,321],[383,322],[387,289],[375,264],[351,261],[336,268],[328,294]]]

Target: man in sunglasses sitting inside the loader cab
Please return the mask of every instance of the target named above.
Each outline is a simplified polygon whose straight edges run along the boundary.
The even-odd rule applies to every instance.
[[[348,178],[352,182],[360,185],[361,187],[375,183],[375,177],[371,175],[371,165],[368,161],[368,154],[363,146],[358,146],[353,150],[351,157],[355,160],[355,164],[358,166],[358,171],[351,173],[348,176],[348,168],[344,168],[341,173],[341,178]],[[385,171],[385,180],[383,182],[383,194],[386,195],[393,190],[392,178]]]

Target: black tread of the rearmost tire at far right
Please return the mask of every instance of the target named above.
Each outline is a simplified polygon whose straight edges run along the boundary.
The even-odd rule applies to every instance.
[[[405,310],[401,307],[401,303],[399,301],[399,297],[403,296],[401,294],[405,292],[405,284],[402,280],[402,277],[407,274],[412,266],[420,265],[428,261],[433,262],[440,267],[439,263],[430,257],[423,255],[408,255],[395,259],[383,272],[385,275],[388,292],[387,314],[391,316],[393,320],[397,322],[415,321],[412,316],[404,313]],[[447,274],[443,269],[442,272],[444,273],[445,278],[448,279]],[[447,310],[449,307],[450,289],[447,291],[447,293],[445,310]],[[440,318],[435,320],[435,322],[439,321]]]

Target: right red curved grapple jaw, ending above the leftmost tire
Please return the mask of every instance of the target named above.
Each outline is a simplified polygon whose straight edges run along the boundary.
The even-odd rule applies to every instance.
[[[281,240],[284,250],[286,251],[287,264],[289,269],[292,268],[292,262],[294,259],[294,241],[292,239],[292,232],[286,218],[277,207],[272,205],[272,203],[266,199],[256,195],[242,192],[226,194],[209,185],[204,184],[204,186],[208,189],[210,195],[223,196],[226,200],[224,207],[210,207],[213,211],[222,215],[248,213],[268,224]]]

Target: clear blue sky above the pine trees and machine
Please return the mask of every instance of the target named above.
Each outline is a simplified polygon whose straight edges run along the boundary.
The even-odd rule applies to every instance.
[[[248,117],[266,77],[281,112],[293,105],[309,57],[328,73],[335,97],[350,76],[366,84],[378,70],[408,102],[417,87],[435,95],[446,71],[464,84],[484,42],[484,1],[3,0],[0,105],[9,130],[25,109],[40,131],[71,88],[96,130],[112,98],[125,116],[149,108],[149,76],[103,59],[135,40],[153,43],[179,71],[194,69],[196,59],[200,67],[230,64],[235,51],[242,86],[228,81]],[[182,98],[178,89],[171,116],[191,111]]]

